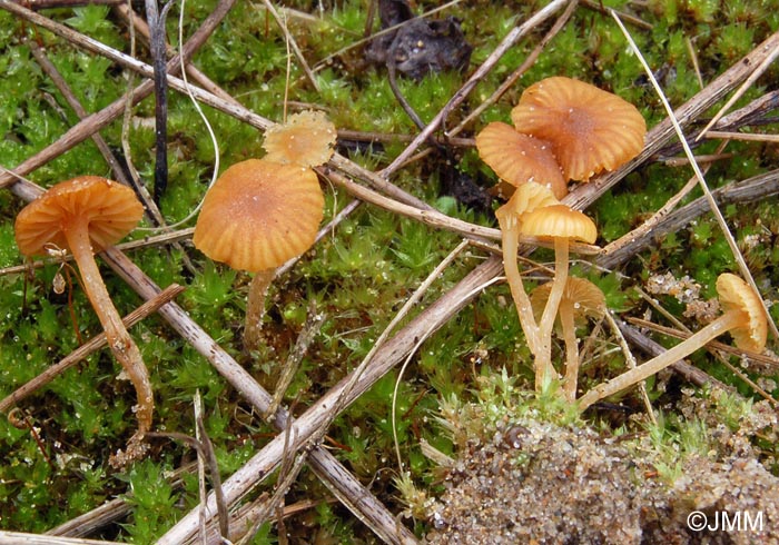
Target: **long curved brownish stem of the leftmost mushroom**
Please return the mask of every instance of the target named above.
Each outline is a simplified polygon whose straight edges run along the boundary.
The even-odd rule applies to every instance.
[[[127,333],[127,328],[121,323],[121,317],[114,306],[111,297],[108,295],[100,270],[97,262],[95,262],[88,227],[86,220],[80,220],[71,224],[63,231],[68,246],[70,246],[70,251],[78,264],[83,290],[106,333],[108,346],[114,357],[127,373],[132,386],[135,386],[136,396],[138,397],[138,409],[136,413],[138,432],[136,432],[130,442],[138,442],[151,428],[155,399],[149,370],[144,364],[138,346],[130,337],[130,334]]]

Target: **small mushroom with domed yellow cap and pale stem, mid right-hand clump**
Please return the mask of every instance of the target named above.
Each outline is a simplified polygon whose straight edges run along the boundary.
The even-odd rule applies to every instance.
[[[568,256],[571,240],[593,244],[598,238],[595,224],[579,210],[565,205],[552,205],[525,212],[520,218],[523,235],[554,241],[554,279],[539,323],[539,353],[535,355],[535,388],[540,390],[548,377],[554,377],[552,367],[552,326],[568,280]]]

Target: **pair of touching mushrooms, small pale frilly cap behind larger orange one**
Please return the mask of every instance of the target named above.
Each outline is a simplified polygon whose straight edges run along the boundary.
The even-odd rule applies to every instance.
[[[325,197],[312,167],[329,160],[335,138],[324,113],[290,116],[266,132],[263,159],[233,165],[206,194],[195,247],[215,261],[255,272],[246,306],[246,349],[259,343],[276,268],[314,244]]]

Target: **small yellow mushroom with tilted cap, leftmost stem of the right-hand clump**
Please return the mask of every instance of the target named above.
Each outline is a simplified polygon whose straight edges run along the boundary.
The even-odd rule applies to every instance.
[[[533,355],[540,349],[539,327],[533,317],[533,307],[522,284],[522,275],[516,265],[520,241],[521,216],[536,208],[559,205],[549,187],[529,181],[521,184],[509,201],[495,210],[495,217],[501,226],[501,238],[503,247],[503,269],[511,288],[511,295],[516,306],[516,314],[525,333],[527,346]]]

